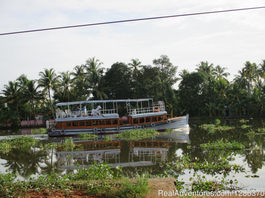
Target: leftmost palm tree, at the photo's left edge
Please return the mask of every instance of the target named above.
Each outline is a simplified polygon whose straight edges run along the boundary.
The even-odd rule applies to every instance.
[[[2,90],[2,93],[4,95],[4,97],[2,98],[2,102],[4,103],[11,103],[15,106],[16,111],[17,111],[17,119],[20,122],[20,118],[19,118],[19,112],[18,112],[18,105],[19,105],[19,101],[20,101],[20,96],[21,96],[21,87],[19,86],[18,82],[12,82],[9,81],[8,85],[4,85],[4,88]]]

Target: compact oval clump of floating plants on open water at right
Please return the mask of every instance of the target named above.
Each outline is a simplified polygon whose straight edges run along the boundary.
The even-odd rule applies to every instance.
[[[230,142],[223,142],[223,139],[216,140],[212,143],[201,144],[202,149],[214,149],[214,150],[224,150],[224,149],[244,149],[245,146],[242,143],[236,142],[235,140]]]

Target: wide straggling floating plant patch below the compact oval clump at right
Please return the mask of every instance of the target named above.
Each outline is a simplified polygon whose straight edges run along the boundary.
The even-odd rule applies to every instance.
[[[176,169],[177,171],[182,171],[183,169],[194,169],[194,171],[202,171],[204,173],[211,174],[220,174],[220,173],[228,173],[228,172],[245,172],[245,168],[238,164],[231,164],[226,161],[224,158],[222,162],[219,163],[208,163],[208,162],[199,162],[197,158],[194,159],[184,154],[174,163],[168,163],[167,168]]]

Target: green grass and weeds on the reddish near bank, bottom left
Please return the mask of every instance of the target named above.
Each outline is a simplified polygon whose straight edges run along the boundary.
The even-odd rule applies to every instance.
[[[135,180],[129,180],[126,173],[122,172],[120,168],[116,168],[115,171],[111,171],[111,167],[106,163],[95,163],[89,169],[78,169],[74,175],[59,175],[51,172],[38,178],[31,177],[28,181],[15,181],[17,175],[0,173],[0,196],[19,197],[26,195],[30,190],[63,191],[66,194],[81,190],[87,194],[105,197],[141,198],[150,191],[148,174],[138,175]],[[105,181],[109,179],[112,179],[113,182]],[[115,182],[117,179],[120,181]]]

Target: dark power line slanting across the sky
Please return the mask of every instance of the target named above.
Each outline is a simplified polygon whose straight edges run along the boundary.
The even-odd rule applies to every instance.
[[[200,13],[185,14],[185,15],[173,15],[173,16],[163,16],[163,17],[140,18],[140,19],[131,19],[131,20],[124,20],[124,21],[112,21],[112,22],[104,22],[104,23],[92,23],[92,24],[87,24],[87,25],[74,25],[74,26],[66,26],[66,27],[54,27],[54,28],[47,28],[47,29],[40,29],[40,30],[28,30],[28,31],[21,31],[21,32],[11,32],[11,33],[5,33],[5,34],[0,34],[0,35],[18,34],[18,33],[25,33],[25,32],[36,32],[36,31],[44,31],[44,30],[55,30],[55,29],[63,29],[63,28],[70,28],[70,27],[82,27],[82,26],[91,26],[91,25],[102,25],[102,24],[109,24],[109,23],[121,23],[121,22],[129,22],[129,21],[141,21],[141,20],[150,20],[150,19],[157,19],[157,18],[169,18],[169,17],[179,17],[179,16],[202,15],[202,14],[210,14],[210,13],[218,13],[218,12],[231,12],[231,11],[239,11],[239,10],[251,10],[251,9],[258,9],[258,8],[265,8],[265,7],[243,8],[243,9],[236,9],[236,10],[223,10],[223,11],[214,11],[214,12],[200,12]]]

